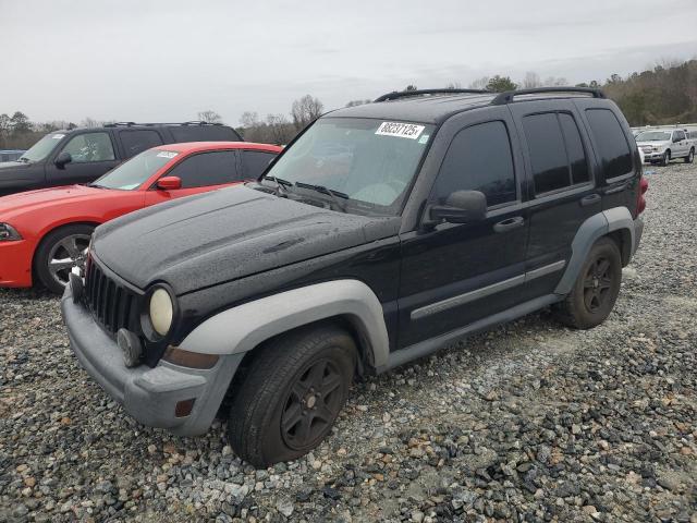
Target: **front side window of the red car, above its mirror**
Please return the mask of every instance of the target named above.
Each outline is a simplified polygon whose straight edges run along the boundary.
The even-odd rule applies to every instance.
[[[240,180],[234,150],[216,150],[189,156],[170,169],[166,177],[179,177],[182,180],[182,188]]]

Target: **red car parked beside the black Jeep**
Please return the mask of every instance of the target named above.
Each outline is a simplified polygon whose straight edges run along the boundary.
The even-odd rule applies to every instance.
[[[91,231],[119,216],[172,198],[256,179],[281,147],[196,142],[154,147],[88,185],[0,197],[0,287],[38,279],[62,293],[84,263]]]

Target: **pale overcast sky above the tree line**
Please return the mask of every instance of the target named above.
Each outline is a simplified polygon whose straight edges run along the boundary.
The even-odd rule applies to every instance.
[[[0,113],[183,121],[697,57],[696,0],[0,0]]]

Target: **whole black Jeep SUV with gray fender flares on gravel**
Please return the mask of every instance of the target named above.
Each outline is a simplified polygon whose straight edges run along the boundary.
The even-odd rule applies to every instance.
[[[137,421],[189,436],[220,410],[268,466],[322,441],[356,374],[542,307],[602,323],[646,190],[599,90],[392,93],[322,115],[256,183],[99,227],[63,318]]]

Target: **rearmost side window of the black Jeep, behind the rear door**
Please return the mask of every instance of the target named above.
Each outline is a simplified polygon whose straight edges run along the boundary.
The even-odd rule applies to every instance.
[[[609,109],[586,109],[606,179],[632,171],[632,153],[617,118]]]

